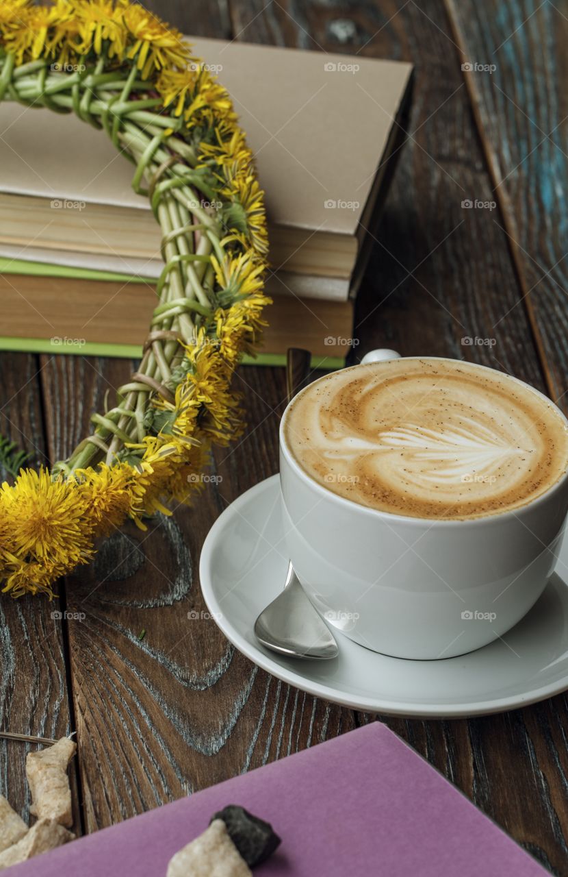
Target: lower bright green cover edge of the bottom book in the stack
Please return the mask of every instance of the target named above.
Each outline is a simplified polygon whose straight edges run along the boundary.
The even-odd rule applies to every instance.
[[[14,353],[67,353],[75,356],[115,356],[127,360],[139,360],[142,356],[142,345],[135,344],[99,344],[96,341],[86,341],[76,344],[59,339],[60,343],[54,344],[51,339],[45,338],[9,338],[0,336],[0,350],[11,350]],[[244,356],[245,366],[285,366],[286,355],[284,353],[259,353],[257,356]],[[322,368],[325,371],[336,371],[343,368],[345,360],[337,356],[312,356],[311,367]]]

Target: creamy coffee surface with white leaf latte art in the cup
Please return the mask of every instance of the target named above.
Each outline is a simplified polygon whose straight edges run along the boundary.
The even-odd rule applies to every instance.
[[[456,360],[390,360],[316,381],[287,444],[340,496],[411,517],[479,517],[539,496],[567,466],[564,418],[533,390]]]

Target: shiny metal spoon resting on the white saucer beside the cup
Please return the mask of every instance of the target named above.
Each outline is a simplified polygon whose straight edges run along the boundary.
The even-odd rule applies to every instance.
[[[310,354],[299,347],[288,349],[286,384],[288,402],[305,384]],[[294,567],[288,565],[284,590],[266,606],[254,624],[256,638],[273,652],[294,658],[336,658],[337,642],[304,594]]]

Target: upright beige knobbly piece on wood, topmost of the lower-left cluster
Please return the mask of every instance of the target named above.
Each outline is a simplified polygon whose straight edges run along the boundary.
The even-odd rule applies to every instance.
[[[73,824],[67,765],[76,748],[71,738],[62,737],[47,749],[30,752],[25,759],[25,773],[32,792],[30,813],[39,819],[54,819],[67,827]]]

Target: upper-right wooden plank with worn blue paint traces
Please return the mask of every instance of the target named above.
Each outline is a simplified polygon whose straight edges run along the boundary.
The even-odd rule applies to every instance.
[[[465,73],[479,118],[493,198],[508,232],[524,299],[545,363],[550,394],[567,408],[568,310],[566,309],[568,177],[562,87],[566,74],[568,10],[565,4],[521,0],[447,0],[461,61],[492,65]],[[502,309],[508,331],[513,312]]]

